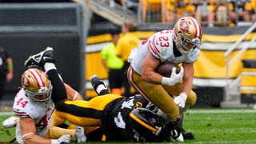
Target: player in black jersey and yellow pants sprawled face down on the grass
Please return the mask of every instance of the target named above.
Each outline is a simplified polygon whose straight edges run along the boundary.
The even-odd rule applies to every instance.
[[[90,101],[68,101],[66,99],[65,86],[58,77],[58,71],[54,65],[53,53],[54,50],[52,48],[47,48],[39,54],[28,58],[25,66],[38,65],[46,70],[46,74],[54,87],[52,99],[56,106],[55,114],[77,126],[102,126],[104,138],[108,141],[141,142],[142,138],[138,136],[134,129],[134,121],[130,121],[130,117],[133,117],[131,112],[139,107],[152,106],[150,102],[140,95],[124,98],[117,94],[109,94],[106,86],[97,76],[90,78],[90,82],[100,96],[94,97]],[[138,122],[142,122],[136,116],[133,118]],[[146,138],[146,141],[149,142],[166,139],[172,132],[171,129],[165,129],[165,126],[161,124],[152,123],[151,126],[144,124],[145,122],[142,122],[142,125],[150,129],[157,137],[153,140],[150,137]],[[167,125],[171,124],[171,122],[167,122]],[[180,141],[183,141],[183,139],[181,138]]]

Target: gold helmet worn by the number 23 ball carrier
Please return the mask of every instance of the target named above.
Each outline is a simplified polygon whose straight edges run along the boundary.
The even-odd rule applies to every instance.
[[[174,42],[182,54],[202,44],[202,27],[192,17],[182,17],[174,26]]]

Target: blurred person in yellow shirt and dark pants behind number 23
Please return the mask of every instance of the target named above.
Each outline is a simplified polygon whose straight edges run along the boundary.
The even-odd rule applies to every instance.
[[[130,51],[138,46],[138,43],[140,40],[136,35],[133,33],[130,33],[134,31],[134,25],[131,22],[124,22],[122,24],[122,37],[119,38],[117,43],[117,55],[119,58],[122,58],[124,61],[124,66],[122,67],[122,70],[124,72],[123,74],[123,83],[125,87],[125,93],[122,94],[125,97],[130,96],[130,84],[127,80],[126,71],[128,70],[130,63],[128,62],[128,57],[130,55]]]

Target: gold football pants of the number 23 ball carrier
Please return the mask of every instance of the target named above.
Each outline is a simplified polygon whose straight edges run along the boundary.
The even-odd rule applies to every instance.
[[[178,96],[180,94],[182,83],[178,83],[174,86],[155,85],[143,81],[141,76],[131,68],[128,69],[127,77],[130,85],[133,86],[138,93],[154,103],[155,106],[158,106],[158,108],[164,111],[169,118],[178,118],[179,108],[170,95]],[[191,90],[186,99],[186,106],[194,106],[196,98],[196,94]]]

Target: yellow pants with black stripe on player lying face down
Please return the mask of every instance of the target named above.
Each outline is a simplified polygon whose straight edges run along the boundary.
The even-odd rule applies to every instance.
[[[59,118],[66,119],[77,126],[102,126],[101,119],[104,108],[117,98],[122,98],[122,96],[117,94],[105,94],[94,97],[90,99],[90,101],[66,101],[62,104],[62,108],[56,110],[55,114],[57,114]]]

